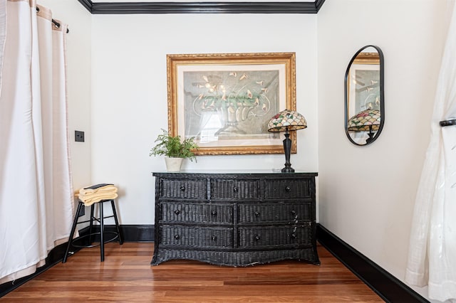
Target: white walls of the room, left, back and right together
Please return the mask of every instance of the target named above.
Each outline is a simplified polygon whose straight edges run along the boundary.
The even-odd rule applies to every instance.
[[[297,110],[309,128],[298,132],[291,163],[319,173],[320,223],[403,280],[447,28],[445,1],[326,1],[318,15],[93,16],[75,0],[39,2],[70,25],[70,132],[86,132],[86,143],[71,145],[75,188],[118,184],[122,224],[153,223],[151,172],[165,164],[148,154],[167,128],[166,54],[294,51]],[[385,55],[385,127],[373,144],[356,147],[343,128],[343,76],[368,44]],[[199,156],[187,168],[283,163],[283,155]],[[414,289],[427,297],[426,289]]]

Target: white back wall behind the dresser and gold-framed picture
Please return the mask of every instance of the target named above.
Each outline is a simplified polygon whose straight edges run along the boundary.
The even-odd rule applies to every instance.
[[[168,53],[296,52],[298,132],[294,169],[318,169],[316,15],[93,15],[92,181],[120,189],[122,224],[153,224],[164,159],[149,151],[167,129]],[[198,156],[187,169],[272,169],[284,155]]]

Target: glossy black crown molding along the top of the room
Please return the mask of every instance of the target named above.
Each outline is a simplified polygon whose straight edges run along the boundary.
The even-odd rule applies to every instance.
[[[92,2],[78,0],[90,14],[317,14],[315,2]]]

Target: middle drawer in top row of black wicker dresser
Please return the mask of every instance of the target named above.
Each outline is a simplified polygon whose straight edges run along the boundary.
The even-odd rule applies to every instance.
[[[238,179],[211,179],[211,199],[258,200],[260,181]]]

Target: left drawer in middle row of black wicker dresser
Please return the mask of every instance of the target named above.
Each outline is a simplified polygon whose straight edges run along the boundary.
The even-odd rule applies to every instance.
[[[160,222],[232,224],[233,206],[166,201],[160,204]]]

